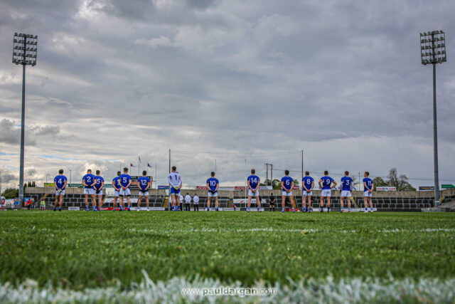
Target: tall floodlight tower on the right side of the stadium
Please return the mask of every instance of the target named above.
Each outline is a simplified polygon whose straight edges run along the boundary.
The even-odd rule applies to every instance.
[[[447,61],[446,34],[444,31],[420,33],[422,64],[433,65],[433,148],[434,148],[434,206],[439,208],[438,126],[436,112],[436,64]]]

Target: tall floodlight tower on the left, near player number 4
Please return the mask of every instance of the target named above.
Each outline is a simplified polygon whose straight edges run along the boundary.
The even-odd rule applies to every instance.
[[[23,205],[23,159],[24,159],[24,127],[26,117],[26,65],[36,65],[38,36],[28,33],[14,33],[13,63],[22,65],[22,115],[21,115],[21,161],[19,169],[19,206]]]

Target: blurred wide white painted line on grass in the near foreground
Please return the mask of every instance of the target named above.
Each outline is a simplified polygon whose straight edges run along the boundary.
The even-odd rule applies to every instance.
[[[282,281],[273,285],[255,283],[258,290],[274,289],[275,293],[232,295],[230,293],[185,294],[184,290],[245,289],[241,283],[225,284],[219,279],[173,277],[152,281],[145,271],[139,283],[120,283],[107,288],[71,290],[47,284],[38,286],[26,280],[18,286],[0,283],[1,303],[454,303],[455,279],[420,278],[341,278]],[[229,290],[228,290],[229,291]]]

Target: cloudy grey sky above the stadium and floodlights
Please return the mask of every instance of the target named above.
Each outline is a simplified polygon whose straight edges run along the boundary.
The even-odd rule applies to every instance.
[[[26,69],[25,181],[58,169],[112,180],[132,163],[166,184],[263,180],[284,169],[339,179],[390,168],[433,185],[432,68],[419,33],[446,32],[437,65],[439,178],[455,184],[455,2],[0,0],[0,170],[16,187],[21,66],[13,35],[38,35]]]

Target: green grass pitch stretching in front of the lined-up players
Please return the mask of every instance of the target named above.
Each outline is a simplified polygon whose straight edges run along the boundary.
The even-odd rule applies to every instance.
[[[422,284],[430,286],[436,280],[444,286],[455,278],[455,214],[6,211],[0,212],[0,227],[5,294],[26,286],[49,294],[117,288],[119,295],[144,280],[181,280],[320,295],[317,286],[324,284],[387,287],[429,280]],[[360,298],[368,299],[378,300]],[[430,294],[417,301],[435,299]],[[455,300],[454,293],[439,300]]]

